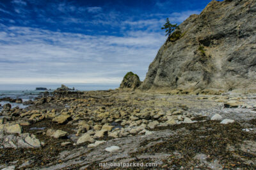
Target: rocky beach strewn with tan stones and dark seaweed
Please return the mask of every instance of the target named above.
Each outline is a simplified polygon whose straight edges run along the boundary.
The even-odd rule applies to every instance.
[[[1,169],[256,168],[255,94],[45,92],[29,104],[2,106]]]

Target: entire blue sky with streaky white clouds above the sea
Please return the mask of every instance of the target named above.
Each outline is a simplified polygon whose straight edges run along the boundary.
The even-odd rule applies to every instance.
[[[143,80],[166,37],[210,2],[0,0],[0,84]]]

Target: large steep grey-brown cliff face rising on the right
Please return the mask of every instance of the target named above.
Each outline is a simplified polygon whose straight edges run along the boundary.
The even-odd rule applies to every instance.
[[[212,1],[180,24],[140,89],[255,89],[256,1]]]

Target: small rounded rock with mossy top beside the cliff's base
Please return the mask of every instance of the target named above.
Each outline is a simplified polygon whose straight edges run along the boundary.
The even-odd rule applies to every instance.
[[[122,83],[120,84],[120,89],[136,89],[141,85],[140,78],[137,74],[129,72],[125,74]]]

